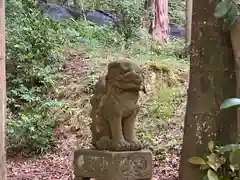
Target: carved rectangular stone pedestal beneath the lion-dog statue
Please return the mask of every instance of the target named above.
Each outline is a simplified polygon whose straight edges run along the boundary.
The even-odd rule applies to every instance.
[[[74,175],[75,180],[150,180],[152,153],[79,149],[74,152]]]

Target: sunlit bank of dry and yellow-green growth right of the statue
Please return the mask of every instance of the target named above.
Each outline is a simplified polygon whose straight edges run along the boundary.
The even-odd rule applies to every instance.
[[[165,134],[169,125],[177,123],[181,126],[181,122],[174,122],[172,120],[176,116],[178,107],[185,99],[185,79],[187,73],[188,63],[182,63],[181,66],[175,63],[175,66],[171,67],[170,64],[161,60],[151,64],[152,72],[156,74],[153,91],[150,93],[147,100],[144,101],[142,109],[139,114],[138,134],[140,140],[152,148],[153,152],[156,152],[160,147],[160,138]],[[176,68],[176,69],[175,69]],[[180,71],[179,68],[182,68]],[[185,70],[184,70],[185,69]],[[183,84],[182,84],[183,83]],[[179,144],[179,137],[172,137],[171,142],[166,144],[166,148],[171,148],[176,144]],[[160,143],[160,144],[159,144]],[[166,142],[165,142],[166,143]],[[162,147],[161,147],[162,148]],[[165,151],[166,151],[166,148]]]

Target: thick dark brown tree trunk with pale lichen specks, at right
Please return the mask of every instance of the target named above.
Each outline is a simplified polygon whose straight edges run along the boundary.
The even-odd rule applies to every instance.
[[[236,76],[229,32],[214,17],[215,1],[194,0],[188,102],[180,160],[180,180],[200,180],[199,167],[188,162],[204,156],[210,139],[236,142],[236,109],[219,112],[223,100],[235,97]]]

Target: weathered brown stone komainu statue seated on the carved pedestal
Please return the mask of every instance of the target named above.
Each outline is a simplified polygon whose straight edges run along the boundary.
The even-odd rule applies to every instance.
[[[135,133],[139,91],[143,88],[140,67],[131,61],[108,64],[91,98],[92,144],[100,150],[127,151],[142,148]]]

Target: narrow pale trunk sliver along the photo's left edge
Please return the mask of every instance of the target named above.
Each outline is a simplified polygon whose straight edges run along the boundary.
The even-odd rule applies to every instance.
[[[6,180],[6,155],[5,155],[5,5],[4,0],[0,4],[0,179]]]

